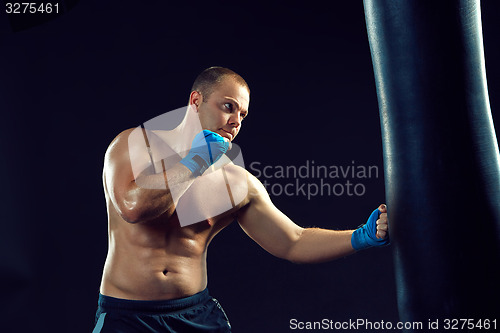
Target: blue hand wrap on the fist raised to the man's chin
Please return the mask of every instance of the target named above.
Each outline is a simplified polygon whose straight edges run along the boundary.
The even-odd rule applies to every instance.
[[[191,150],[180,162],[195,176],[200,176],[209,166],[217,162],[227,152],[229,142],[219,134],[203,130],[196,134]]]

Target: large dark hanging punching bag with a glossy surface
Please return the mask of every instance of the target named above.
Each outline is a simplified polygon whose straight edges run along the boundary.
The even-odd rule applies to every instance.
[[[498,329],[500,158],[480,3],[364,6],[400,319],[422,322],[419,332],[461,318]]]

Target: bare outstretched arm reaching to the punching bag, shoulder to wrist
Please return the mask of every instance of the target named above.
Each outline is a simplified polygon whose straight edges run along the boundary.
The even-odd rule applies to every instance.
[[[238,214],[243,230],[269,253],[296,263],[334,260],[355,252],[353,230],[302,228],[271,202],[260,181],[249,176],[249,203]]]

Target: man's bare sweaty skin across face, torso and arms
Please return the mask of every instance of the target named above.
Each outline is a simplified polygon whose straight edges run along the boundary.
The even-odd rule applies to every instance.
[[[234,220],[265,250],[292,262],[323,262],[355,252],[351,246],[352,230],[299,227],[274,206],[264,186],[245,169],[226,160],[195,178],[179,163],[200,130],[190,123],[201,123],[201,128],[232,141],[248,113],[248,104],[248,90],[230,78],[224,79],[208,98],[192,92],[192,108],[188,109],[184,123],[172,131],[155,131],[151,135],[155,138],[152,141],[163,145],[162,149],[171,150],[169,158],[163,161],[163,171],[149,165],[140,175],[134,175],[129,153],[134,151],[134,147],[129,147],[133,129],[113,140],[103,169],[109,249],[102,294],[131,300],[167,300],[202,291],[207,286],[208,245]],[[143,159],[144,165],[150,161],[147,152],[133,158]],[[220,177],[222,168],[226,178]],[[240,195],[243,200],[222,214],[180,227],[176,208],[203,214],[207,206],[212,208],[220,202],[217,195],[224,192],[226,181],[231,184],[233,195]],[[182,194],[180,199],[171,194],[174,190]],[[382,214],[377,222],[377,236],[385,238],[385,205],[379,209]]]

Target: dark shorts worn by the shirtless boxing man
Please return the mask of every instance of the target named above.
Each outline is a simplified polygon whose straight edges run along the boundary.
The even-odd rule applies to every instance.
[[[99,294],[92,333],[231,332],[219,302],[205,289],[166,301],[133,301]]]

